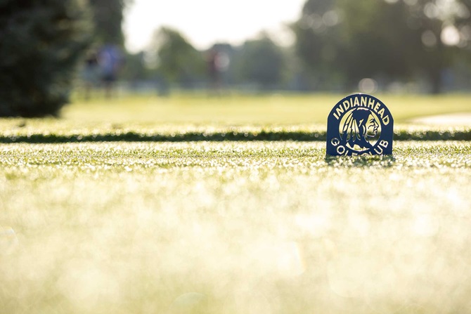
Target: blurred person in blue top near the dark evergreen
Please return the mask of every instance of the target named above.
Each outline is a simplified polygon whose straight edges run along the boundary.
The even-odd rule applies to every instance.
[[[98,65],[101,83],[105,88],[106,98],[111,98],[117,74],[122,65],[121,51],[117,46],[106,44],[98,51]]]

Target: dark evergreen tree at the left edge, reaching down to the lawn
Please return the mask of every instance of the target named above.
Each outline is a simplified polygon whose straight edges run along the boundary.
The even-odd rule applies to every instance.
[[[0,116],[58,115],[88,44],[80,0],[0,1]]]

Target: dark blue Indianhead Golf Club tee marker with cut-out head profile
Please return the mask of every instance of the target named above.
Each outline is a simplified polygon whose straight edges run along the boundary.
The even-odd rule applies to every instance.
[[[378,98],[347,96],[327,119],[327,155],[391,155],[393,124],[391,112]]]

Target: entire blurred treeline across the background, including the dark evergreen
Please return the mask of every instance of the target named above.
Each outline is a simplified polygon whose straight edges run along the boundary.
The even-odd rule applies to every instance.
[[[224,57],[218,84],[227,89],[349,92],[368,79],[382,91],[412,84],[415,92],[440,93],[471,81],[470,0],[307,0],[290,25],[292,46],[263,33],[201,51],[179,30],[162,27],[146,51],[129,53],[122,22],[132,2],[2,0],[0,115],[58,115],[77,63],[93,65],[91,52],[103,46],[123,55],[119,79],[157,90],[211,86],[214,48]]]

